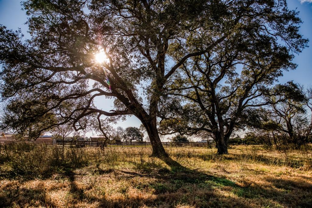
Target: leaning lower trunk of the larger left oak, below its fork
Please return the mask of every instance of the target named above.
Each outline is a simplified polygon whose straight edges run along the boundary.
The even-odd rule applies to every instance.
[[[168,157],[168,154],[166,153],[160,141],[156,122],[142,122],[142,123],[146,128],[147,134],[149,135],[149,140],[151,142],[153,149],[152,156],[156,156],[161,159]]]

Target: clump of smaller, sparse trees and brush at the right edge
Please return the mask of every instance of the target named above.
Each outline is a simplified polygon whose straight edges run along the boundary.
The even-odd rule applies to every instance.
[[[258,109],[248,137],[270,148],[293,148],[312,142],[312,88],[292,83],[291,93],[266,97],[270,102]],[[280,102],[274,102],[280,99]]]

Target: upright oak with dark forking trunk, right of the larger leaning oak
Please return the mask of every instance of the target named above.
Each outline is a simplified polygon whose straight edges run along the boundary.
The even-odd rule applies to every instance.
[[[298,33],[295,11],[287,10],[285,2],[265,2],[250,10],[240,28],[214,50],[184,62],[181,73],[166,84],[163,134],[204,131],[216,141],[218,153],[227,154],[233,131],[256,118],[255,108],[283,101],[265,98],[281,93],[271,88],[283,70],[295,69],[292,53],[300,53],[307,40]],[[197,34],[193,47],[201,47],[205,36]]]

